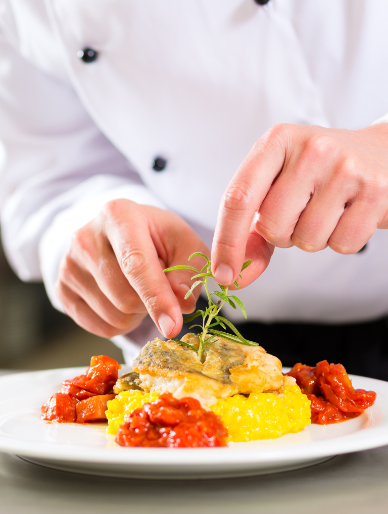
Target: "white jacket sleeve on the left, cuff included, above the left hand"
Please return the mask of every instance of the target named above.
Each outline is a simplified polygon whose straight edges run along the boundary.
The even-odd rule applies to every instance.
[[[114,198],[163,208],[104,137],[64,75],[31,64],[0,34],[0,222],[7,258],[51,302],[72,233]]]

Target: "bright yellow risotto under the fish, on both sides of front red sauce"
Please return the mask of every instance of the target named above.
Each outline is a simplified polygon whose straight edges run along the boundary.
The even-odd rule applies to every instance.
[[[310,400],[298,386],[284,386],[283,394],[251,393],[249,397],[236,394],[219,400],[211,410],[221,416],[230,441],[272,439],[291,432],[299,432],[310,425]],[[138,390],[123,391],[108,401],[107,432],[115,435],[120,425],[143,403],[154,401],[157,393]]]

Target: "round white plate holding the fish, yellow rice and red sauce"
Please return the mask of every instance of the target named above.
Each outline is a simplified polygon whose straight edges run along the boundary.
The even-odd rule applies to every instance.
[[[105,435],[106,425],[39,419],[42,403],[61,382],[84,372],[68,368],[0,377],[6,398],[0,402],[0,451],[79,473],[189,479],[285,471],[388,444],[388,382],[351,376],[355,388],[376,391],[377,399],[364,414],[344,423],[312,425],[297,434],[227,448],[122,448]]]

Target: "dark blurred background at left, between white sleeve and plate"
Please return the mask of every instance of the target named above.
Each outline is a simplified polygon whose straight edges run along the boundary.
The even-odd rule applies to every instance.
[[[19,280],[0,245],[0,369],[86,366],[101,354],[124,362],[111,341],[84,331],[52,307],[43,284]]]

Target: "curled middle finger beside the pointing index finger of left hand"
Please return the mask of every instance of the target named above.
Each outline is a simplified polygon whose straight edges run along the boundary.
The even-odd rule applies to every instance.
[[[97,218],[74,234],[72,258],[80,268],[90,271],[102,294],[121,313],[142,312],[144,304],[121,271],[108,238],[101,234],[100,223]]]

